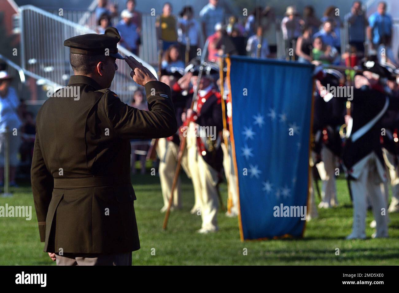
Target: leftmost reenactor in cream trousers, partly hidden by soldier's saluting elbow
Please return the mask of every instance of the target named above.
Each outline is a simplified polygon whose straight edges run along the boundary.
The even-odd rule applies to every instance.
[[[173,76],[175,79],[178,78],[178,80],[172,83],[170,87],[172,101],[176,113],[176,120],[178,122],[178,125],[180,126],[183,124],[182,113],[186,107],[187,100],[191,100],[192,97],[192,90],[189,89],[189,83],[192,73],[187,71],[186,73],[183,72],[184,75],[182,75],[180,71],[176,70],[173,72],[165,72],[164,74]],[[159,139],[156,146],[158,158],[160,159],[158,172],[161,181],[162,197],[164,200],[164,206],[161,208],[161,212],[166,212],[166,210],[168,209],[169,198],[172,191],[174,171],[176,170],[176,164],[178,159],[179,145],[180,138],[179,133],[177,132],[170,137]],[[191,176],[188,170],[186,149],[184,149],[182,155],[182,167],[184,169],[184,172],[186,172],[187,176],[190,178]],[[179,178],[173,192],[173,202],[170,209],[180,209],[181,206],[182,203]]]

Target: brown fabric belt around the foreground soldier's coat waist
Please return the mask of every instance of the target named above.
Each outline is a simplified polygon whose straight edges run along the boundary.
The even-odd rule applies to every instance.
[[[114,176],[93,176],[84,178],[54,178],[54,188],[85,188],[131,184],[130,178]]]

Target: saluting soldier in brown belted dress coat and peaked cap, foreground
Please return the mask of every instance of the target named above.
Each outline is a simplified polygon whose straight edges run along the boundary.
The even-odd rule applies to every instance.
[[[37,115],[32,191],[40,240],[57,265],[131,264],[140,244],[129,140],[177,130],[170,88],[133,57],[123,58],[119,40],[115,28],[65,40],[74,75]],[[149,111],[122,103],[108,89],[116,59],[145,87]]]

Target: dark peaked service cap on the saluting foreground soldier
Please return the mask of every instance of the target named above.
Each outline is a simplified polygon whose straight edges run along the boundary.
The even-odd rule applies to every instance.
[[[71,53],[81,55],[103,55],[107,53],[106,49],[109,49],[110,56],[124,59],[118,53],[119,41],[118,30],[110,26],[104,34],[85,34],[69,38],[64,41],[64,46],[69,47]]]

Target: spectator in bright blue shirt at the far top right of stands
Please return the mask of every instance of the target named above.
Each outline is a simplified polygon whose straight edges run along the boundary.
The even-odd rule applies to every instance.
[[[391,45],[392,37],[392,18],[386,14],[387,4],[379,2],[377,12],[369,17],[369,27],[367,28],[367,38],[376,49],[380,44]]]

